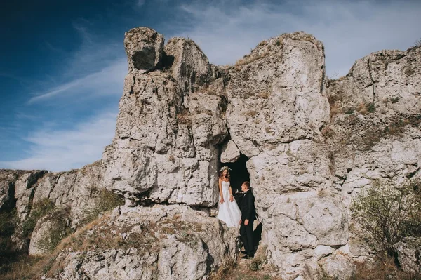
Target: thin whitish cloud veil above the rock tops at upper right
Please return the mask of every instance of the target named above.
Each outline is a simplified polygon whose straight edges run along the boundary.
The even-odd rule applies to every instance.
[[[260,41],[305,31],[323,41],[326,69],[344,75],[355,60],[385,48],[406,49],[419,33],[419,1],[194,1],[180,6],[189,36],[217,65],[233,64]]]

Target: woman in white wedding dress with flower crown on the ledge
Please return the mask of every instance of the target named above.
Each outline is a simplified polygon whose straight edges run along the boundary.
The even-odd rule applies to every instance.
[[[220,189],[220,204],[218,207],[218,215],[216,218],[222,220],[228,227],[239,227],[241,219],[241,211],[236,204],[234,196],[232,195],[232,187],[229,183],[228,166],[220,169],[219,189]]]

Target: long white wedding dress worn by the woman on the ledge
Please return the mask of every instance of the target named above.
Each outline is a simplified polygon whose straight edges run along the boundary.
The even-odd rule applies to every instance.
[[[225,222],[228,227],[240,227],[241,211],[235,199],[232,202],[229,201],[229,182],[222,181],[221,184],[224,203],[220,204],[218,201],[218,215],[216,218]]]

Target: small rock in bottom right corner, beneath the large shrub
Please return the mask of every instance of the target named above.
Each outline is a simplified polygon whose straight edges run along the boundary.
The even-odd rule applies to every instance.
[[[394,244],[393,248],[404,272],[421,274],[421,238],[408,237]]]

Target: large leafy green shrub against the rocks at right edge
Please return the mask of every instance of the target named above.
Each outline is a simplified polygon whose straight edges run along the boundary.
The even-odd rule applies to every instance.
[[[421,180],[400,187],[374,181],[353,201],[352,217],[378,253],[394,255],[393,245],[406,236],[421,236]]]

